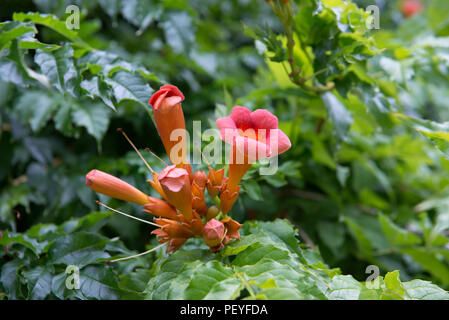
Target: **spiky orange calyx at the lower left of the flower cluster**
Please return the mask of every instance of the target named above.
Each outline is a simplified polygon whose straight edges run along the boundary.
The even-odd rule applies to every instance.
[[[187,239],[194,237],[193,232],[178,221],[157,218],[154,219],[161,227],[153,230],[151,233],[158,237],[159,243],[168,242],[167,253],[175,252],[182,246]]]

